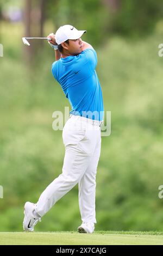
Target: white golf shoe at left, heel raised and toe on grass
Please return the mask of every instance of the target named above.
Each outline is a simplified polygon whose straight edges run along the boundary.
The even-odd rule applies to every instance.
[[[41,221],[40,217],[36,217],[33,213],[36,205],[30,202],[26,202],[24,205],[24,220],[23,220],[23,229],[24,231],[33,231],[34,226],[37,222]]]

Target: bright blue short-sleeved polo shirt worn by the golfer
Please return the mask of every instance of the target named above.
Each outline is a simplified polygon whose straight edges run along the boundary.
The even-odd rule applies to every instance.
[[[103,96],[96,65],[96,51],[87,48],[77,56],[60,58],[54,62],[52,73],[71,104],[71,114],[103,120]]]

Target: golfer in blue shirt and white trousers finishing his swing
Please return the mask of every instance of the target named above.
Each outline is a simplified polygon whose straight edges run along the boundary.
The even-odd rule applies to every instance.
[[[59,82],[72,111],[62,131],[65,158],[62,173],[42,192],[36,204],[24,205],[23,229],[33,231],[37,222],[52,206],[79,186],[80,233],[93,233],[96,223],[96,171],[101,151],[103,97],[95,68],[97,55],[82,41],[86,31],[71,25],[61,26],[48,42],[55,50],[52,73]]]

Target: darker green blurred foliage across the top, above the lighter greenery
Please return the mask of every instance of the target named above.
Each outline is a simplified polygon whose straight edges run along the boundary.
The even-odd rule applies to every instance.
[[[39,8],[43,0],[28,1],[32,7],[30,23],[35,26],[35,23],[40,23]],[[1,0],[0,20],[2,9],[10,6],[23,9],[25,2],[27,0]],[[44,0],[43,16],[45,21],[53,22],[54,33],[65,24],[86,28],[85,39],[99,46],[104,43],[106,35],[137,38],[152,33],[156,23],[162,19],[163,4],[162,0]]]

